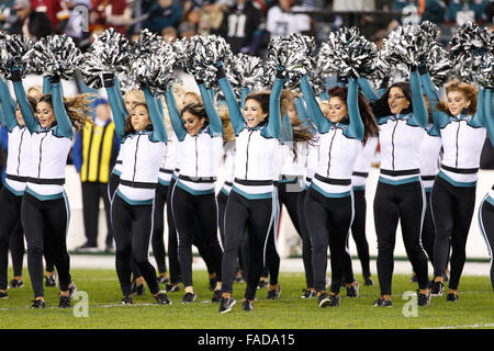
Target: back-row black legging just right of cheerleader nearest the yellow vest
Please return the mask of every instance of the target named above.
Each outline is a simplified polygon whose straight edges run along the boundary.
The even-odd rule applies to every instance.
[[[165,204],[167,203],[168,185],[158,183],[155,195],[155,229],[153,230],[151,247],[159,273],[167,271],[165,248]]]

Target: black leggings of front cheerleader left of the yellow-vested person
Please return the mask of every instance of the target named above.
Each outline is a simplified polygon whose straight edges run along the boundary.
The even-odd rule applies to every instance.
[[[70,257],[67,251],[69,205],[61,199],[41,201],[25,192],[21,205],[21,220],[27,241],[27,269],[34,297],[43,297],[43,253],[58,272],[60,291],[70,284]]]

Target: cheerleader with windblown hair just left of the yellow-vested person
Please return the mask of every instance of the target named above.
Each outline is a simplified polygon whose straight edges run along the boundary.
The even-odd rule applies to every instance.
[[[67,252],[69,205],[64,191],[65,166],[72,145],[74,132],[89,117],[87,95],[64,99],[60,78],[53,76],[52,94],[36,104],[36,117],[29,104],[20,71],[11,77],[27,131],[31,133],[30,167],[22,200],[21,220],[27,241],[27,269],[34,291],[33,308],[46,306],[43,291],[43,253],[54,262],[59,280],[59,307],[70,307],[75,285],[70,278]]]

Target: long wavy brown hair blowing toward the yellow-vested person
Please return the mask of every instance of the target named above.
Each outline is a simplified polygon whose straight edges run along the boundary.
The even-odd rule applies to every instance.
[[[90,93],[80,94],[75,98],[64,98],[64,106],[67,112],[70,123],[79,132],[86,125],[86,123],[93,124],[90,116],[91,106],[89,105],[93,100],[94,95]],[[36,105],[40,102],[46,102],[53,107],[53,97],[52,94],[44,94],[40,98]]]

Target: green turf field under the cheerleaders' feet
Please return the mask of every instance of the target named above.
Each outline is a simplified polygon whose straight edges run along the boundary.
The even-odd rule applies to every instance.
[[[446,303],[445,296],[434,297],[430,307],[418,307],[416,317],[404,317],[402,299],[405,291],[417,285],[407,275],[393,280],[393,307],[372,307],[379,297],[379,287],[360,286],[359,298],[341,298],[341,306],[318,308],[316,299],[301,299],[304,287],[302,273],[280,275],[281,296],[266,299],[267,290],[258,291],[254,310],[242,310],[245,283],[234,285],[237,304],[233,312],[220,315],[218,304],[210,302],[207,276],[194,271],[198,299],[182,305],[183,292],[170,293],[171,306],[158,306],[148,290],[144,296],[134,296],[133,306],[121,306],[122,298],[116,273],[113,270],[71,271],[79,291],[89,297],[88,317],[75,317],[75,309],[58,308],[58,290],[45,288],[46,309],[31,309],[32,290],[27,276],[25,286],[9,290],[9,298],[0,299],[0,329],[4,328],[165,328],[165,329],[411,329],[411,328],[494,328],[494,294],[487,276],[463,276],[457,303]],[[11,272],[9,272],[11,276]],[[357,276],[361,279],[361,276]],[[345,292],[341,292],[345,296]],[[80,301],[72,301],[77,305]],[[81,310],[78,308],[77,310]]]

